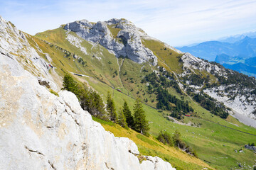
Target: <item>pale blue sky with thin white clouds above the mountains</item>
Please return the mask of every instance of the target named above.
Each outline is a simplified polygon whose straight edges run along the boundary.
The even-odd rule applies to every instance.
[[[0,0],[0,16],[31,35],[82,19],[126,18],[177,47],[256,31],[256,0]]]

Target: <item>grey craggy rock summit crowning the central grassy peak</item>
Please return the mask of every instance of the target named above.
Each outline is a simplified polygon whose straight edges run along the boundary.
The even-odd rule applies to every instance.
[[[120,29],[115,38],[108,26]],[[129,57],[134,62],[149,62],[157,64],[157,57],[151,50],[144,47],[142,38],[149,37],[140,28],[125,19],[111,19],[109,21],[89,23],[86,20],[68,23],[66,30],[75,32],[81,38],[100,43],[107,50],[114,52],[117,57]]]

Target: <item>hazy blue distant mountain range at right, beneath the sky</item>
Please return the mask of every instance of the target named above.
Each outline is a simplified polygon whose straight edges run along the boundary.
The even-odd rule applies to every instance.
[[[205,60],[218,62],[228,69],[256,76],[256,32],[177,49]]]

